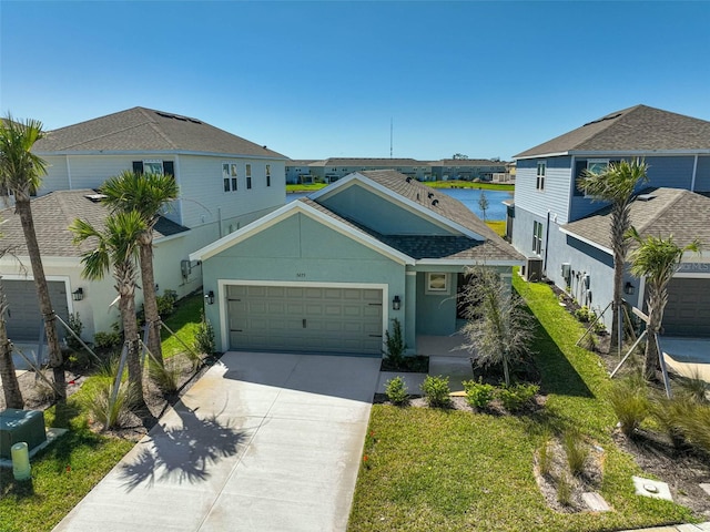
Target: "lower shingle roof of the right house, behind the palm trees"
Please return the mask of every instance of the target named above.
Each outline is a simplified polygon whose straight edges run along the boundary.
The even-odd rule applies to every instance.
[[[694,238],[704,248],[710,247],[709,219],[710,197],[682,188],[648,188],[631,203],[631,225],[641,237],[673,235],[681,247]],[[611,253],[611,207],[566,224],[560,231]]]

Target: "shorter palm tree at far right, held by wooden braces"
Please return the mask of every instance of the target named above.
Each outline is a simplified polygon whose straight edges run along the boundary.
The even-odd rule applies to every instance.
[[[680,247],[673,242],[672,235],[666,239],[660,236],[641,238],[635,227],[631,227],[629,235],[639,244],[639,247],[631,252],[631,273],[639,278],[646,277],[648,289],[646,301],[649,319],[643,375],[647,380],[653,380],[660,360],[656,335],[663,321],[663,310],[668,303],[668,284],[678,272],[683,253],[698,253],[700,243],[696,239]]]

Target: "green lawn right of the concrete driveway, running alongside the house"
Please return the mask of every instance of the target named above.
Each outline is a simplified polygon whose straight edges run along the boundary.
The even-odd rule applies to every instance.
[[[545,409],[498,417],[373,406],[348,530],[602,531],[692,521],[683,507],[633,494],[631,475],[641,471],[611,439],[609,379],[596,355],[575,347],[584,329],[548,286],[518,276],[514,284],[540,321]],[[561,514],[545,503],[532,457],[546,432],[568,427],[604,448],[598,491],[613,511]]]

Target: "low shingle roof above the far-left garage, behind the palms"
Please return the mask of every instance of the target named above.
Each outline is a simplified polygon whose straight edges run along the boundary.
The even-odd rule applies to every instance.
[[[90,241],[75,246],[73,233],[69,226],[81,218],[93,227],[103,227],[109,209],[100,202],[90,200],[95,195],[93,190],[57,191],[32,200],[32,218],[42,256],[80,257],[84,252],[93,249]],[[160,217],[153,229],[155,239],[184,233],[187,229],[168,218]],[[19,256],[27,256],[27,245],[20,216],[13,207],[0,211],[0,246],[11,247]]]

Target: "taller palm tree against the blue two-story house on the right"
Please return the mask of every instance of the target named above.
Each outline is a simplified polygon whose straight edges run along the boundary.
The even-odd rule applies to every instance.
[[[613,300],[611,303],[611,347],[618,346],[619,316],[622,308],[622,284],[626,256],[629,252],[627,233],[631,227],[631,200],[639,183],[648,181],[648,164],[643,160],[633,158],[609,163],[602,172],[585,171],[578,180],[578,186],[592,201],[611,203],[611,250],[613,252]]]

